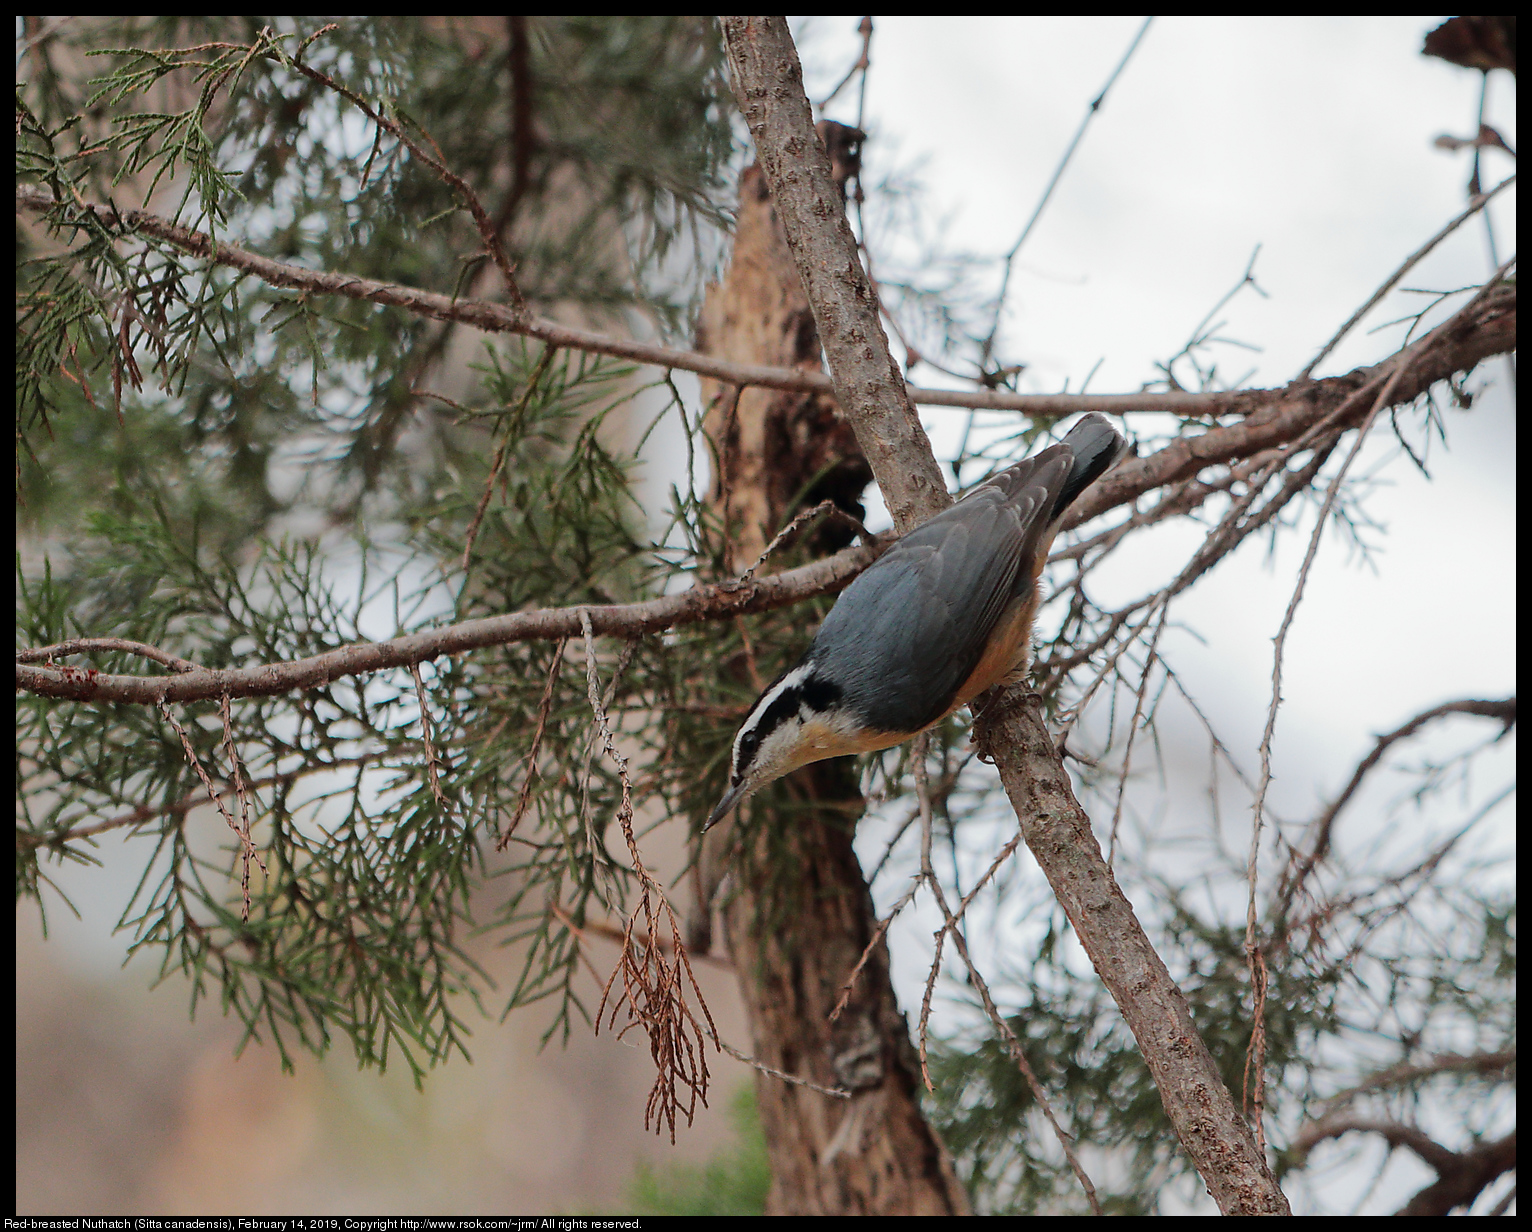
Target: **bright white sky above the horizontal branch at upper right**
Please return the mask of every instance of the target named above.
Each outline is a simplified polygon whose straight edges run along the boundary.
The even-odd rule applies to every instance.
[[[1020,256],[1008,319],[1031,388],[1135,389],[1262,245],[1270,300],[1232,320],[1255,342],[1255,383],[1288,380],[1373,288],[1465,204],[1466,155],[1431,141],[1474,129],[1480,75],[1428,60],[1440,18],[1158,17],[1118,77]],[[867,89],[869,170],[925,159],[953,247],[1003,251],[1141,17],[881,17]],[[804,23],[800,23],[804,25]],[[810,97],[838,78],[856,18],[806,23]],[[1497,74],[1491,118],[1512,126]],[[1498,104],[1497,104],[1498,100]],[[855,118],[847,89],[832,104]],[[896,153],[890,155],[890,150]],[[1488,156],[1489,182],[1512,170]],[[1514,199],[1497,208],[1501,259]],[[1481,227],[1416,276],[1478,280]],[[1442,279],[1458,277],[1458,283]],[[1379,316],[1377,320],[1386,319]],[[1383,348],[1354,339],[1345,371]],[[1235,357],[1232,357],[1235,359]],[[1232,366],[1238,366],[1232,363]],[[928,374],[925,374],[928,375]],[[922,377],[924,380],[924,377]]]

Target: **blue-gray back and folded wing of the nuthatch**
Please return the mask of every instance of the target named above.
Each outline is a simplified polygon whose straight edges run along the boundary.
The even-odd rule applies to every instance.
[[[1036,581],[1072,452],[1056,444],[918,526],[852,582],[810,659],[835,651],[846,703],[878,731],[918,731],[951,706],[1011,602]]]

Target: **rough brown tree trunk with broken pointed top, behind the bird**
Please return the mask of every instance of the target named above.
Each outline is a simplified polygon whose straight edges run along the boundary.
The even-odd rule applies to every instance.
[[[740,179],[734,256],[723,283],[709,288],[697,346],[748,363],[821,366],[813,314],[757,167]],[[717,460],[712,500],[731,527],[734,570],[749,567],[798,507],[829,498],[859,516],[872,470],[830,395],[702,385]],[[849,539],[830,523],[815,546]],[[699,919],[722,870],[731,873],[728,944],[755,1056],[852,1093],[836,1099],[757,1074],[772,1165],[768,1214],[968,1214],[947,1149],[921,1116],[918,1063],[881,941],[829,1022],[876,930],[852,850],[861,814],[855,763],[806,766],[789,789],[801,808],[778,815],[748,806],[738,832],[714,827],[699,860]]]

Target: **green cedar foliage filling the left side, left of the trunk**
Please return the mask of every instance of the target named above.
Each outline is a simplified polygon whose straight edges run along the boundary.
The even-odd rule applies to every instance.
[[[668,383],[308,297],[72,208],[147,207],[288,264],[501,294],[464,202],[299,55],[504,210],[533,313],[674,337],[722,251],[735,147],[702,18],[144,18],[46,40],[17,92],[20,182],[58,202],[18,227],[18,644],[123,637],[253,667],[711,570],[694,486],[657,541],[634,500],[637,414],[673,412]],[[423,668],[438,788],[409,671],[236,700],[227,737],[216,703],[178,708],[182,737],[158,709],[23,697],[17,892],[46,912],[49,864],[95,860],[93,827],[132,815],[130,949],[283,1056],[339,1033],[418,1077],[466,1051],[460,1014],[487,981],[464,941],[486,912],[532,938],[509,1002],[556,994],[567,1031],[590,1010],[547,903],[576,922],[593,896],[620,912],[631,869],[607,850],[620,792],[590,749],[579,645],[527,763],[553,654],[525,642]],[[657,637],[602,647],[599,673],[619,732],[650,745],[654,708],[697,685]],[[697,748],[717,763],[714,728]],[[187,820],[207,798],[184,742],[219,788],[231,743],[253,788],[265,869],[248,919],[230,893],[239,843]],[[671,774],[677,809],[706,808],[711,781]]]

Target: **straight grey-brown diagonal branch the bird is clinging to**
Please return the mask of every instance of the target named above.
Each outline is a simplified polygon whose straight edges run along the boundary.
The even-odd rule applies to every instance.
[[[928,516],[950,498],[945,487],[933,487],[928,478],[936,463],[924,432],[904,431],[902,412],[889,405],[887,374],[893,371],[893,359],[878,322],[876,300],[858,277],[861,264],[850,230],[844,219],[836,224],[840,210],[823,208],[832,201],[829,161],[813,135],[787,25],[781,17],[725,17],[722,23],[735,95],[813,302],[841,409],[856,428],[889,507],[901,510],[905,519]],[[832,333],[841,345],[830,345]],[[841,363],[850,366],[841,371]],[[895,438],[885,437],[890,424],[899,429]],[[1259,447],[1264,444],[1250,441],[1252,451]],[[1207,464],[1196,457],[1187,454],[1186,473]],[[1135,478],[1144,473],[1141,469]],[[1117,504],[1132,483],[1114,486],[1112,498],[1102,500]],[[1102,507],[1095,504],[1094,512]],[[1186,999],[1102,858],[1040,709],[1040,700],[1031,697],[1002,731],[987,725],[979,737],[980,748],[994,755],[1028,846],[1121,1007],[1166,1112],[1219,1209],[1287,1214],[1287,1201],[1250,1128],[1192,1025]]]

